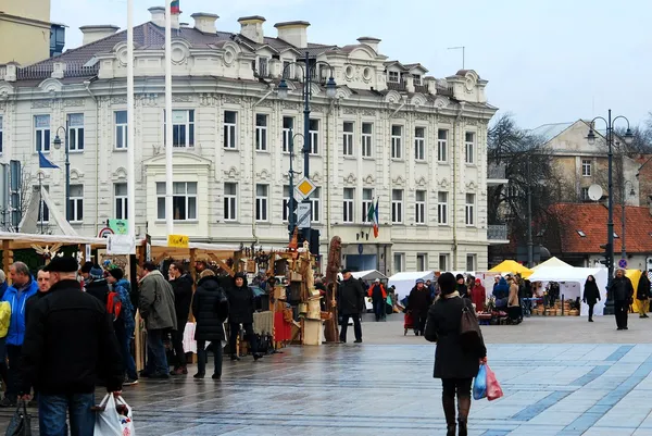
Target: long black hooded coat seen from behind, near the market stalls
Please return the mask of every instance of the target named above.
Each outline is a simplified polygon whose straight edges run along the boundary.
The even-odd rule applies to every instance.
[[[226,340],[224,322],[228,317],[228,299],[215,277],[199,281],[192,298],[192,314],[197,320],[195,340]]]

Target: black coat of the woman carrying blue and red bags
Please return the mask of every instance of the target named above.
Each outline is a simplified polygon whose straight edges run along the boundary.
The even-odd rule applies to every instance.
[[[428,310],[425,337],[437,341],[435,351],[435,378],[472,378],[480,368],[479,359],[487,356],[484,342],[475,352],[465,351],[460,340],[462,309],[469,308],[466,298],[440,298]]]

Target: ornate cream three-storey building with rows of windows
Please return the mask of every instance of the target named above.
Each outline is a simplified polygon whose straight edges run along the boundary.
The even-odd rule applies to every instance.
[[[68,125],[70,222],[97,235],[109,219],[136,220],[139,235],[164,239],[164,9],[135,29],[134,145],[126,141],[126,33],[85,26],[84,45],[30,66],[0,66],[2,161],[17,159],[53,203],[65,202],[64,151],[52,146]],[[446,79],[418,63],[388,61],[379,39],[338,47],[308,42],[306,22],[261,16],[220,32],[217,15],[173,16],[175,233],[196,241],[263,247],[288,239],[289,129],[303,130],[301,68],[328,62],[312,85],[310,178],[321,252],[342,239],[344,264],[391,274],[487,266],[486,80],[474,71]],[[289,98],[275,91],[286,71]],[[296,152],[302,139],[297,138]],[[126,210],[126,148],[136,147],[136,211]],[[61,170],[39,170],[37,151]],[[302,171],[297,153],[296,171]],[[379,236],[366,219],[378,199]],[[46,213],[45,220],[48,220]]]

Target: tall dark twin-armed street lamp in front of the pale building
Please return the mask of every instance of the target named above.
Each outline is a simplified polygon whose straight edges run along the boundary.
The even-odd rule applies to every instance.
[[[305,58],[304,58],[304,64],[302,65],[301,63],[297,63],[297,62],[291,62],[289,64],[286,64],[286,66],[283,68],[283,79],[280,80],[280,84],[278,85],[278,98],[281,100],[285,100],[288,98],[288,83],[285,79],[287,73],[289,72],[289,68],[292,65],[299,66],[302,68],[303,71],[303,176],[304,177],[310,177],[310,151],[311,151],[311,137],[310,137],[310,98],[312,97],[312,89],[311,89],[311,84],[314,83],[313,80],[313,76],[318,73],[317,72],[317,66],[318,65],[326,65],[329,70],[330,70],[330,77],[328,78],[328,80],[326,82],[326,97],[329,99],[335,98],[335,95],[337,92],[337,84],[335,83],[335,78],[334,76],[334,68],[333,66],[330,66],[330,64],[328,62],[324,62],[324,61],[315,61],[313,63],[313,65],[310,65],[310,52],[305,52]],[[293,198],[292,198],[293,192],[290,192],[290,202],[291,204],[294,203]],[[310,199],[308,197],[305,197],[305,199],[303,200],[303,202],[310,203]],[[293,213],[293,211],[290,211],[290,213]],[[292,231],[293,232],[293,228]],[[310,229],[309,232],[306,232],[305,234],[306,236],[310,235]],[[315,247],[315,249],[317,249],[318,247]]]

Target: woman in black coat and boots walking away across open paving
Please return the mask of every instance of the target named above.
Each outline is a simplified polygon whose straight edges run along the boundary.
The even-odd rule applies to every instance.
[[[441,404],[448,427],[447,436],[455,436],[456,424],[460,425],[460,436],[466,436],[471,383],[478,373],[479,364],[487,363],[487,348],[481,336],[473,347],[464,344],[460,337],[463,309],[471,310],[474,316],[475,311],[471,301],[460,298],[460,292],[455,290],[455,277],[451,273],[443,273],[438,283],[441,297],[428,310],[425,337],[431,342],[437,342],[434,377],[441,378],[443,387]]]

